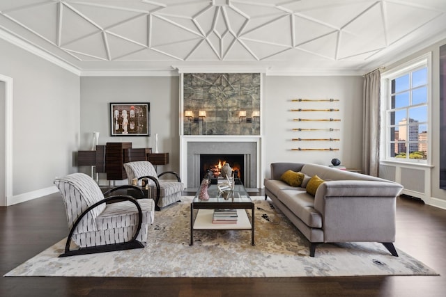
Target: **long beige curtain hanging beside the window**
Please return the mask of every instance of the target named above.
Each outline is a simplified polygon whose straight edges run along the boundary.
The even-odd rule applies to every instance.
[[[362,134],[362,170],[367,175],[379,175],[380,145],[380,70],[364,75],[364,131]]]

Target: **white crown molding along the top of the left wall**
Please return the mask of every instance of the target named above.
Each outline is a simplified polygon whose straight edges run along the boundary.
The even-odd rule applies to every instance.
[[[54,65],[57,65],[65,70],[68,70],[73,74],[77,74],[78,76],[81,74],[79,68],[71,65],[70,63],[67,63],[66,61],[62,61],[60,58],[57,58],[56,56],[49,54],[48,51],[40,49],[39,47],[31,44],[30,42],[26,42],[21,38],[18,38],[17,36],[5,31],[2,28],[0,28],[0,38],[17,47],[20,47],[21,49],[29,51],[31,54],[35,54],[36,56],[43,58],[46,61],[53,63]]]

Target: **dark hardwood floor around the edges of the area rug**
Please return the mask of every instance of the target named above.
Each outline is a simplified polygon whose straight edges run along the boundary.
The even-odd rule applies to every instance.
[[[47,195],[10,207],[0,207],[1,275],[52,246],[67,234],[66,214],[59,194]],[[446,210],[424,205],[417,200],[399,198],[395,246],[431,266],[440,276],[2,277],[0,296],[446,296]]]

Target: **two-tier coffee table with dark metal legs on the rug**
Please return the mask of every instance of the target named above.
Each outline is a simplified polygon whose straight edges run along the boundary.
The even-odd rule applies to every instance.
[[[233,191],[220,193],[217,184],[208,187],[209,200],[200,200],[199,191],[190,204],[190,246],[194,244],[194,230],[251,230],[254,243],[254,202],[243,184],[236,184]],[[194,209],[198,209],[194,217]],[[237,223],[212,223],[214,209],[237,209]],[[249,218],[247,209],[251,209]]]

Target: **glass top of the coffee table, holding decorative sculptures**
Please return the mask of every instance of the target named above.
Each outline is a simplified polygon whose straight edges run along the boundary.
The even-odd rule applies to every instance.
[[[217,186],[217,184],[211,184],[208,187],[208,193],[209,193],[209,200],[200,200],[198,198],[198,193],[195,195],[194,200],[192,203],[240,203],[240,202],[252,202],[251,198],[249,197],[245,186],[243,184],[236,184],[234,186],[233,191],[223,191],[221,192]]]

